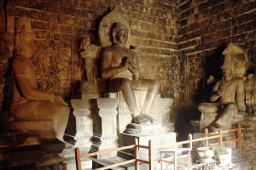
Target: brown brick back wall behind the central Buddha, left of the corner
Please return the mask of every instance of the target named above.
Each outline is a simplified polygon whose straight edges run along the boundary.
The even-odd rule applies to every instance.
[[[83,37],[90,37],[100,46],[96,38],[97,26],[110,12],[109,7],[114,6],[129,21],[131,44],[142,47],[143,77],[158,79],[160,93],[164,97],[177,98],[179,88],[173,83],[179,78],[177,9],[176,1],[168,0],[8,1],[8,17],[16,19],[26,15],[32,18],[37,38],[36,54],[31,62],[38,74],[38,87],[44,88],[47,82],[52,82],[56,94],[70,98],[73,87],[83,74],[79,42]],[[4,66],[1,65],[1,77]],[[0,83],[3,100],[4,82],[1,80]]]

